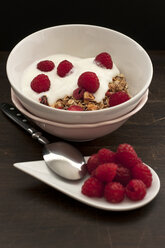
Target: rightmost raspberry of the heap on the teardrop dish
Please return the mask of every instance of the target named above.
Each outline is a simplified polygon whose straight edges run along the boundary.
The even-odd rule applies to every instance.
[[[152,184],[152,174],[150,169],[143,163],[138,163],[132,168],[132,177],[140,179],[146,185],[150,187]]]

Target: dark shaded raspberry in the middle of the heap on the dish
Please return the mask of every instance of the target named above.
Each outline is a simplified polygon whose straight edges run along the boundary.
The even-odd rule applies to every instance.
[[[126,167],[118,166],[114,181],[121,183],[123,186],[126,186],[130,180],[131,180],[130,170]]]

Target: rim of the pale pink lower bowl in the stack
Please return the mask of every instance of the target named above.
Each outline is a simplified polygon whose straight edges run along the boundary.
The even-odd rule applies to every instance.
[[[65,124],[65,123],[59,123],[59,122],[55,122],[55,121],[46,120],[46,119],[40,118],[38,116],[35,116],[32,113],[30,113],[27,109],[25,109],[25,107],[21,104],[21,102],[19,101],[19,99],[17,98],[17,96],[15,95],[15,93],[12,89],[11,89],[11,99],[19,111],[21,111],[24,115],[26,115],[28,118],[30,118],[34,121],[41,122],[45,125],[48,124],[48,125],[53,125],[53,126],[55,125],[58,127],[73,128],[74,129],[74,128],[87,128],[87,127],[88,128],[89,127],[94,128],[94,127],[100,127],[100,126],[107,126],[107,125],[115,124],[115,123],[120,122],[120,121],[124,121],[125,119],[128,119],[132,115],[136,114],[145,105],[145,103],[148,100],[148,93],[149,93],[149,90],[147,89],[147,91],[145,92],[145,94],[141,98],[138,105],[129,113],[127,113],[127,114],[125,114],[125,115],[123,115],[117,119],[110,120],[110,121],[103,121],[103,122],[89,123],[89,124],[70,124],[70,123]]]

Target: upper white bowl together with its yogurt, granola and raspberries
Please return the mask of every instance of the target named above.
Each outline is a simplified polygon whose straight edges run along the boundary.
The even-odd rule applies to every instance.
[[[21,104],[58,123],[90,124],[132,111],[152,80],[147,52],[133,39],[92,25],[61,25],[20,41],[7,76]]]

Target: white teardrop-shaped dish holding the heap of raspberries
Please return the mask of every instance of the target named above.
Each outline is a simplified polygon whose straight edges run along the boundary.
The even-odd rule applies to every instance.
[[[88,157],[85,157],[85,159],[87,160]],[[138,202],[133,202],[125,198],[122,203],[113,204],[108,203],[104,198],[89,198],[81,193],[81,187],[87,177],[80,181],[64,180],[54,174],[52,171],[50,171],[49,168],[46,166],[45,162],[42,160],[15,163],[14,166],[17,169],[39,179],[40,181],[48,184],[49,186],[61,191],[62,193],[82,203],[108,211],[127,211],[140,208],[151,202],[156,197],[160,189],[159,177],[156,172],[151,167],[149,167],[153,176],[153,182],[151,187],[147,190],[145,198]]]

